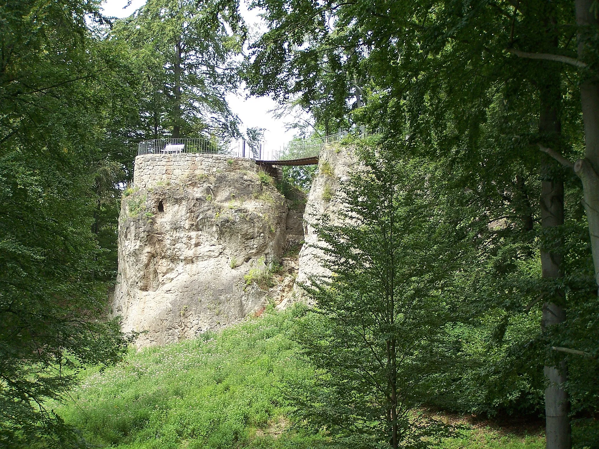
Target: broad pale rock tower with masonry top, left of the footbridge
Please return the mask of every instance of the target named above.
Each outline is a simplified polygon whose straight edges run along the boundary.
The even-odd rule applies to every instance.
[[[292,210],[252,160],[211,154],[138,156],[123,195],[113,314],[139,345],[191,338],[291,292],[303,238]],[[273,263],[282,260],[273,286]],[[291,271],[291,273],[289,273]]]

